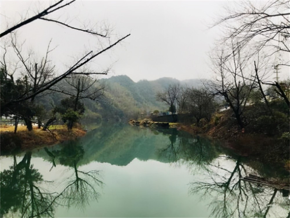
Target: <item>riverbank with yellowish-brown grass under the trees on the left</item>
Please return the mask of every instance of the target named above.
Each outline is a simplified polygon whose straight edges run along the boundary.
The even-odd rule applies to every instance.
[[[51,146],[67,140],[75,140],[86,134],[81,128],[68,130],[66,126],[51,126],[49,130],[43,131],[37,126],[28,131],[26,126],[19,126],[14,134],[13,126],[0,126],[1,155],[20,152],[28,149],[35,149],[44,146]]]

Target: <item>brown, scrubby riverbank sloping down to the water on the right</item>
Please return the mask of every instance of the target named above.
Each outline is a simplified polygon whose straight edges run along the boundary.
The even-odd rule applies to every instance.
[[[140,125],[142,123],[140,121]],[[168,127],[177,128],[192,135],[199,134],[217,138],[221,141],[222,147],[231,149],[237,156],[263,163],[278,164],[290,171],[289,133],[282,134],[282,136],[269,135],[261,133],[261,131],[253,131],[250,125],[241,129],[237,126],[230,111],[215,114],[210,122],[201,120],[198,126],[196,124],[168,123]]]

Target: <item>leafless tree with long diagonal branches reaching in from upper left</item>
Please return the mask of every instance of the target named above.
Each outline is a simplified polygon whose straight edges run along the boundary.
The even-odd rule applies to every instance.
[[[75,0],[71,0],[68,2],[65,2],[64,0],[57,1],[55,4],[52,6],[49,6],[45,10],[39,12],[37,15],[30,17],[29,19],[26,19],[24,21],[21,21],[19,24],[16,24],[7,30],[5,30],[3,33],[1,33],[0,37],[4,37],[8,35],[9,33],[12,34],[14,33],[15,30],[17,30],[20,27],[23,27],[24,25],[35,21],[36,19],[41,19],[44,21],[50,21],[54,22],[60,25],[65,26],[66,28],[71,28],[77,31],[82,31],[88,34],[93,34],[97,37],[104,38],[108,41],[108,45],[104,47],[103,45],[101,46],[101,50],[98,51],[88,51],[86,54],[79,58],[78,60],[75,61],[71,66],[68,66],[68,69],[65,72],[54,74],[54,66],[50,65],[48,62],[48,54],[53,50],[50,49],[50,43],[46,52],[45,57],[40,61],[32,60],[31,59],[31,53],[26,55],[22,54],[21,52],[21,46],[18,46],[16,43],[16,37],[12,34],[12,40],[11,40],[11,46],[14,49],[14,52],[17,54],[17,57],[19,59],[19,62],[17,64],[14,64],[15,70],[12,71],[12,69],[8,69],[7,67],[7,62],[5,60],[5,57],[7,55],[7,49],[6,46],[2,46],[4,48],[4,53],[3,53],[3,61],[1,61],[1,64],[4,69],[4,75],[5,75],[5,80],[9,78],[10,80],[14,81],[13,75],[16,69],[19,67],[19,63],[23,66],[24,71],[23,73],[23,80],[24,80],[24,85],[26,87],[25,90],[22,90],[21,93],[11,96],[10,99],[6,98],[5,100],[2,101],[2,95],[1,95],[1,116],[4,113],[9,113],[9,114],[15,114],[15,108],[17,108],[19,105],[23,104],[25,102],[26,108],[29,106],[28,104],[33,104],[34,99],[37,96],[41,96],[44,94],[47,90],[55,86],[58,82],[65,78],[69,78],[71,76],[75,75],[97,75],[97,74],[107,74],[107,71],[104,72],[78,72],[78,69],[81,67],[85,66],[89,62],[91,62],[95,57],[98,55],[101,55],[102,53],[108,51],[109,49],[113,48],[115,45],[119,44],[122,40],[124,40],[126,37],[128,37],[130,34],[121,37],[117,39],[114,43],[111,43],[111,39],[109,38],[109,28],[106,26],[104,28],[98,28],[98,30],[95,30],[93,28],[78,28],[74,26],[70,26],[66,24],[63,21],[53,19],[51,17],[48,17],[48,15],[52,14],[53,12],[57,10],[62,10],[63,8],[69,6],[71,3],[73,3]],[[31,68],[31,66],[33,66]],[[2,71],[2,67],[1,67]],[[11,72],[10,72],[11,71]],[[2,93],[1,93],[2,94]],[[5,93],[4,93],[5,96]],[[92,97],[92,96],[90,96]],[[30,116],[23,116],[23,119],[26,119],[28,123],[29,120],[32,119],[31,115]],[[28,129],[32,129],[32,125],[28,125]]]

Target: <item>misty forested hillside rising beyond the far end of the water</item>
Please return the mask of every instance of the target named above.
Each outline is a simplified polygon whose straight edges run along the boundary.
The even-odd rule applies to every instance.
[[[157,101],[156,94],[165,91],[170,84],[179,82],[182,86],[200,87],[201,82],[197,79],[179,81],[173,78],[160,78],[148,81],[140,80],[134,82],[126,75],[113,76],[108,79],[101,79],[94,84],[96,89],[102,89],[102,95],[96,100],[81,99],[84,104],[84,114],[81,117],[82,123],[107,121],[126,121],[128,118],[137,119],[147,115],[154,110],[168,111],[168,105]],[[71,91],[66,81],[62,81],[52,89],[57,90],[61,87]],[[61,100],[69,96],[62,92],[49,92],[36,98],[39,105],[43,105],[45,115],[43,120],[52,116],[55,107],[61,106]],[[58,120],[61,120],[60,118]]]

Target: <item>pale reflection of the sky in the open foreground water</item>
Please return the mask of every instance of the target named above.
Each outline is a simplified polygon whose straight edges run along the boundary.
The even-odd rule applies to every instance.
[[[185,166],[172,167],[158,161],[134,159],[127,166],[90,163],[85,168],[101,170],[105,183],[98,203],[85,210],[86,217],[204,217],[207,203],[189,196],[188,183],[193,178]],[[81,169],[82,167],[80,167]],[[59,210],[58,217],[82,217],[71,209]]]

